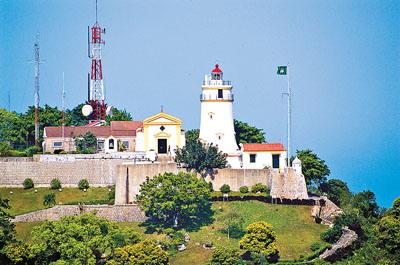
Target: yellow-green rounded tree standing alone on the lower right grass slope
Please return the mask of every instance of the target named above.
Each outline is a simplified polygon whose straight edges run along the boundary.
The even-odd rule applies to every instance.
[[[239,241],[240,248],[249,253],[262,254],[269,261],[278,260],[279,251],[272,225],[260,221],[248,225],[246,230],[246,234]]]

